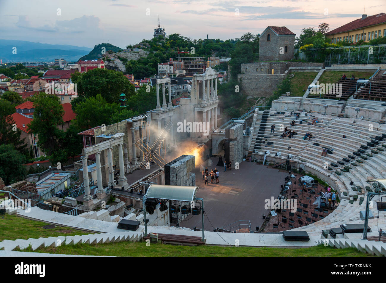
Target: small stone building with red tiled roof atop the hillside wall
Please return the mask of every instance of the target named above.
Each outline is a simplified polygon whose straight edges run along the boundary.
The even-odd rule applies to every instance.
[[[292,60],[295,35],[286,27],[267,27],[259,36],[259,60]]]

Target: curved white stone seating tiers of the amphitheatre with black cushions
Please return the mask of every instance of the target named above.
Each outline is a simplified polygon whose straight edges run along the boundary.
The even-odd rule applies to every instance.
[[[332,213],[324,219],[295,228],[295,230],[320,234],[323,229],[339,227],[340,224],[347,222],[363,223],[359,219],[359,211],[365,210],[367,192],[372,190],[372,186],[366,181],[373,178],[383,179],[386,175],[386,138],[381,141],[375,140],[376,136],[378,139],[379,137],[386,137],[384,134],[386,133],[386,125],[330,115],[305,114],[305,112],[301,112],[300,118],[296,121],[290,112],[277,114],[276,111],[270,111],[263,137],[261,137],[262,135],[258,137],[257,131],[254,131],[249,151],[253,152],[253,155],[259,156],[264,156],[264,152],[269,151],[268,160],[283,159],[284,161],[288,154],[292,154],[295,156],[297,167],[304,164],[306,171],[323,179],[338,191],[340,203]],[[318,117],[320,122],[316,126],[308,124],[313,118],[310,115]],[[260,114],[256,117],[256,129],[260,125],[261,117]],[[296,125],[290,126],[293,120],[295,120]],[[300,120],[303,120],[302,124],[299,123]],[[270,135],[273,124],[276,131]],[[371,125],[369,126],[369,124]],[[283,133],[280,131],[281,125],[297,132],[297,135],[283,139],[280,136]],[[306,132],[313,134],[311,141],[303,140]],[[346,137],[344,138],[343,135]],[[257,138],[258,140],[256,140]],[[255,143],[255,141],[264,140],[267,140],[265,144]],[[368,146],[367,143],[371,143],[371,141],[378,142],[378,145],[370,144],[372,146]],[[267,142],[272,142],[272,144],[267,145]],[[314,145],[314,142],[319,145]],[[323,157],[323,147],[332,149],[332,154]],[[358,152],[358,149],[361,152]],[[281,155],[275,156],[277,152],[281,152]],[[372,208],[372,211],[374,215],[378,214],[376,207]],[[386,223],[385,216],[385,212],[380,212],[380,221]],[[376,219],[369,219],[370,227],[374,223],[376,224]]]

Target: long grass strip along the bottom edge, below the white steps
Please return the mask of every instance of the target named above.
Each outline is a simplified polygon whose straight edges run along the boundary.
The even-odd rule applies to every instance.
[[[28,250],[24,250],[28,251]],[[311,248],[254,248],[236,246],[173,246],[146,242],[76,244],[36,250],[40,253],[98,256],[370,256],[354,248],[336,249],[323,245]]]

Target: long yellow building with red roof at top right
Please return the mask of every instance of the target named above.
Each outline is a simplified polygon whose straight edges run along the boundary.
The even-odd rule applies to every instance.
[[[379,13],[369,17],[362,15],[362,18],[335,28],[325,33],[325,36],[331,39],[331,43],[339,41],[358,42],[359,40],[369,42],[381,36],[386,37],[386,14]]]

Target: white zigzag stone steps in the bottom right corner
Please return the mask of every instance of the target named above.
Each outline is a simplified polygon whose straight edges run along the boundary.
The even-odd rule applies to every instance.
[[[386,256],[386,243],[362,239],[318,239],[318,244],[334,246],[338,249],[356,248],[362,253],[370,255]]]

